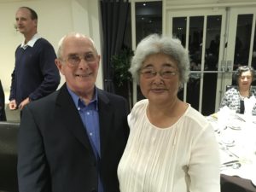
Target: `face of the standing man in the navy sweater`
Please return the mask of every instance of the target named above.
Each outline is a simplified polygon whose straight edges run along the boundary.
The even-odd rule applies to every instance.
[[[38,20],[32,20],[31,13],[28,9],[18,9],[15,20],[17,30],[24,35],[32,34],[37,30]]]

